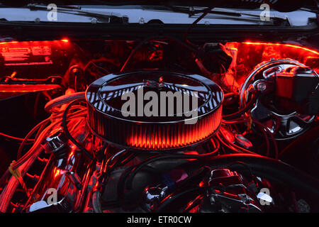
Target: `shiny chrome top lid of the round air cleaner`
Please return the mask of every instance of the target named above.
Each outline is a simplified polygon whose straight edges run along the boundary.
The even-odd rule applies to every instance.
[[[106,116],[167,123],[191,118],[194,111],[198,117],[210,113],[222,103],[223,92],[197,74],[141,71],[97,79],[86,90],[86,99]]]

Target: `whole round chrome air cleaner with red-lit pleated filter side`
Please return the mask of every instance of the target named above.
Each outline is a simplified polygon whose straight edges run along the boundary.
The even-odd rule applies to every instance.
[[[211,137],[221,123],[223,91],[196,74],[108,74],[86,90],[87,121],[102,140],[123,148],[171,150]]]

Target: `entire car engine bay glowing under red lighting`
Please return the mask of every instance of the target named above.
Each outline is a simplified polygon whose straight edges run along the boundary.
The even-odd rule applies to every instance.
[[[318,73],[298,43],[2,42],[0,211],[318,212]]]

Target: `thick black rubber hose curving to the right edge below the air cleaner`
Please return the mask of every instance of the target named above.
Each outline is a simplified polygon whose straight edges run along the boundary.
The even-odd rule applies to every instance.
[[[251,154],[220,155],[208,157],[205,160],[194,160],[184,164],[184,167],[198,168],[198,166],[203,165],[212,168],[225,167],[229,163],[237,161],[248,165],[257,177],[264,177],[284,187],[291,187],[301,192],[314,194],[314,198],[319,198],[319,179],[311,177],[291,165],[269,157]],[[238,170],[245,170],[243,166],[238,166],[237,168]]]

